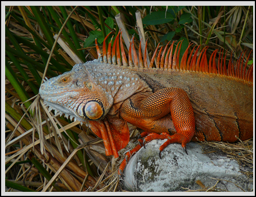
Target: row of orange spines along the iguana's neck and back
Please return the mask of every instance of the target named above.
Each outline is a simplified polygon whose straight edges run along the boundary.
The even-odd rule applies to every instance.
[[[112,33],[112,32],[111,32]],[[109,34],[111,34],[109,33]],[[108,34],[108,36],[109,36]],[[123,46],[123,39],[122,39],[122,32],[119,31],[119,33],[116,36],[116,39],[113,43],[113,48],[111,52],[111,45],[112,45],[112,40],[113,36],[111,38],[111,41],[108,44],[108,51],[106,51],[106,40],[108,36],[105,37],[103,41],[103,54],[101,54],[99,46],[97,45],[97,40],[95,40],[96,44],[96,49],[97,49],[97,54],[99,57],[100,62],[108,63],[108,64],[117,64],[117,65],[123,65],[123,66],[135,66],[135,68],[153,68],[153,63],[155,61],[155,57],[157,54],[157,50],[159,48],[159,44],[156,47],[155,52],[153,53],[153,56],[151,58],[150,64],[148,65],[147,63],[147,42],[145,43],[145,50],[144,50],[144,60],[143,57],[141,56],[141,42],[139,46],[139,58],[137,57],[136,50],[134,47],[134,37],[132,38],[132,41],[129,46],[129,53],[128,53],[128,61],[124,52],[124,46]],[[120,41],[119,41],[120,40]],[[212,52],[210,60],[207,61],[207,56],[206,56],[206,51],[208,46],[204,47],[202,51],[200,52],[198,56],[198,48],[195,50],[195,53],[193,55],[194,48],[192,49],[190,56],[188,57],[188,50],[190,49],[190,46],[192,45],[191,43],[188,45],[188,48],[186,49],[185,53],[182,56],[182,60],[179,62],[179,55],[180,55],[180,48],[182,46],[182,41],[179,41],[176,49],[174,51],[174,54],[172,55],[173,49],[174,49],[174,42],[172,42],[171,46],[168,48],[168,44],[165,46],[163,53],[162,49],[163,46],[160,48],[157,59],[156,59],[156,68],[159,69],[175,69],[175,70],[190,70],[190,71],[195,71],[195,72],[204,72],[204,73],[215,73],[215,74],[221,74],[225,76],[231,76],[235,78],[239,78],[241,80],[245,81],[250,81],[253,82],[253,64],[251,64],[250,68],[246,72],[247,68],[247,62],[249,60],[250,54],[247,57],[246,63],[243,66],[243,60],[245,58],[246,52],[239,56],[239,59],[237,61],[237,65],[234,66],[233,64],[233,58],[231,58],[227,64],[226,67],[226,56],[227,52],[225,54],[225,57],[223,58],[224,55],[224,49],[220,49],[219,53],[219,58],[218,58],[218,65],[216,65],[215,62],[215,57],[219,49],[214,50]],[[120,49],[121,49],[121,56],[120,56]],[[166,53],[167,50],[167,53]],[[251,50],[252,51],[252,50]],[[132,60],[132,52],[133,52],[133,60]],[[161,57],[162,54],[162,57]],[[221,57],[220,57],[221,56]],[[165,58],[164,58],[165,57]],[[232,52],[231,52],[231,57]],[[208,63],[207,63],[208,62]],[[218,69],[217,69],[218,68]]]

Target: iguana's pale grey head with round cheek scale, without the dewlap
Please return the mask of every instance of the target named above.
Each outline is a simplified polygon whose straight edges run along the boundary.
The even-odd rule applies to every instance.
[[[85,65],[76,64],[69,72],[44,80],[39,90],[49,110],[60,111],[81,123],[103,119],[113,103],[111,94],[94,84]]]

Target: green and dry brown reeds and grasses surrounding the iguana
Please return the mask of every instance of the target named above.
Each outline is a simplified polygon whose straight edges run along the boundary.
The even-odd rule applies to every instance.
[[[100,47],[111,31],[115,38],[117,14],[137,49],[137,10],[149,57],[159,42],[173,40],[183,40],[181,54],[193,42],[209,46],[208,57],[225,49],[234,62],[245,50],[246,60],[253,49],[253,6],[5,6],[6,191],[121,191],[117,169],[124,157],[105,156],[102,140],[85,125],[48,112],[38,90],[45,76],[97,58],[95,38]],[[59,33],[64,42],[56,42]],[[246,143],[223,150],[252,167],[253,140]]]

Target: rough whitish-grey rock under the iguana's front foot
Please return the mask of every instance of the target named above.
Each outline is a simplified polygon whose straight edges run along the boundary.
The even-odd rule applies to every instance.
[[[187,144],[187,153],[180,144],[170,144],[159,157],[159,147],[166,140],[153,140],[131,157],[124,169],[123,188],[128,191],[199,190],[216,185],[218,191],[253,191],[253,182],[239,172],[239,164],[218,153],[202,153],[197,143]],[[215,178],[215,179],[211,179]],[[227,181],[229,182],[227,182]]]

